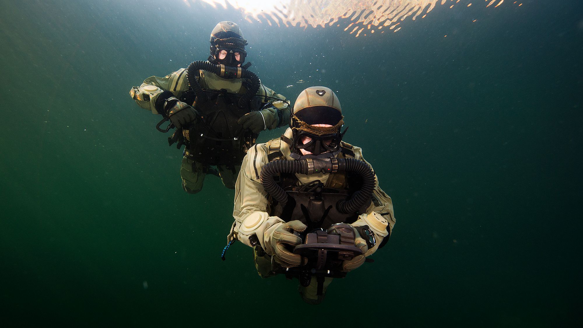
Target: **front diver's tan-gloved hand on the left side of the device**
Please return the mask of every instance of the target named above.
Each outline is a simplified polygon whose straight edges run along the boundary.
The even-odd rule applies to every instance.
[[[294,246],[301,244],[301,238],[294,235],[293,232],[303,232],[306,228],[306,225],[301,223],[301,221],[294,220],[287,223],[280,223],[280,226],[273,231],[271,236],[273,254],[271,255],[280,266],[301,266],[308,262],[308,259],[291,252]]]

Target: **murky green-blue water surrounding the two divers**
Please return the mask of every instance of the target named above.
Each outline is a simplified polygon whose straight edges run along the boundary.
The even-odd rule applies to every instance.
[[[581,327],[581,2],[270,3],[2,1],[2,326]],[[221,20],[266,86],[336,92],[392,197],[387,246],[320,305],[248,246],[220,259],[234,191],[185,193],[128,96]]]

